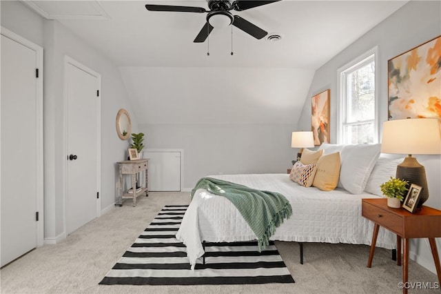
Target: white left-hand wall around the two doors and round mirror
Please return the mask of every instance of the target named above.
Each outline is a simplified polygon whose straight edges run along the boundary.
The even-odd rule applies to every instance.
[[[132,112],[119,70],[58,21],[48,21],[19,1],[2,1],[1,25],[44,48],[45,241],[65,237],[65,130],[63,127],[63,62],[68,55],[101,74],[101,210],[114,206],[116,161],[127,156],[128,141],[116,135],[119,108]],[[136,119],[132,117],[133,130]],[[79,183],[81,193],[81,183]]]

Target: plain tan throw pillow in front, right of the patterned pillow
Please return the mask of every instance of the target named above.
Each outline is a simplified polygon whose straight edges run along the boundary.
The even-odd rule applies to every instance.
[[[312,186],[320,190],[334,190],[340,176],[340,153],[331,153],[320,156],[316,166],[316,176]]]

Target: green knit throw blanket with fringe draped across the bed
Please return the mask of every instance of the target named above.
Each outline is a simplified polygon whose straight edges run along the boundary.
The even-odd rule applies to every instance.
[[[232,182],[203,177],[192,190],[192,199],[198,189],[229,199],[242,214],[257,236],[258,251],[268,246],[269,237],[292,215],[288,199],[280,193],[256,190]]]

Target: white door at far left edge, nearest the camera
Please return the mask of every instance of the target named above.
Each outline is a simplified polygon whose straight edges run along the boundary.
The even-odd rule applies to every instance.
[[[8,32],[10,39],[6,31],[2,28],[1,266],[43,243],[43,99],[36,72],[43,49]]]

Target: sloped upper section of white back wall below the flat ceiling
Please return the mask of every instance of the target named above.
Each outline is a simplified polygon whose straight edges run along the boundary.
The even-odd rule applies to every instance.
[[[291,124],[314,70],[120,67],[139,124]]]

